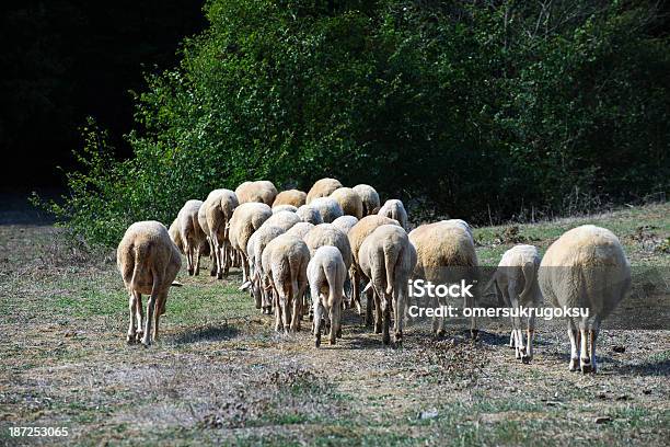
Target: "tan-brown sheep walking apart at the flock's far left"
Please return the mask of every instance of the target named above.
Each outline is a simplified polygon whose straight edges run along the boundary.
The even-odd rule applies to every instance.
[[[152,220],[135,222],[128,227],[116,249],[116,264],[130,295],[130,324],[126,340],[128,343],[141,340],[145,346],[149,346],[152,340],[158,340],[159,320],[165,313],[168,291],[182,267],[180,252],[163,224]],[[149,295],[143,337],[142,294]]]

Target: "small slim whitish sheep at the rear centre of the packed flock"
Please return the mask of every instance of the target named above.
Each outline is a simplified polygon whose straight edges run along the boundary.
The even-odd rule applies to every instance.
[[[338,249],[320,247],[308,264],[308,280],[314,309],[314,343],[321,345],[321,323],[326,317],[331,322],[331,344],[342,336],[342,302],[347,267]]]

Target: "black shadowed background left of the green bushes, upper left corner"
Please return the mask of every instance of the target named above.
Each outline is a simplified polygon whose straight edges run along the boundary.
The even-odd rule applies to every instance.
[[[61,187],[86,116],[119,157],[143,73],[174,66],[203,0],[21,1],[0,7],[1,191]],[[9,163],[9,164],[7,164]]]

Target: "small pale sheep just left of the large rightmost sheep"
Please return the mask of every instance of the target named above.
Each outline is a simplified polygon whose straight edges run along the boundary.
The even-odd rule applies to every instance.
[[[506,307],[534,309],[540,306],[542,296],[538,285],[538,267],[540,267],[540,252],[534,245],[516,245],[503,254],[492,282],[496,295],[503,297]],[[531,313],[528,317],[525,345],[521,330],[521,318],[512,316],[511,321],[510,346],[515,348],[517,358],[528,364],[533,358],[535,314]]]

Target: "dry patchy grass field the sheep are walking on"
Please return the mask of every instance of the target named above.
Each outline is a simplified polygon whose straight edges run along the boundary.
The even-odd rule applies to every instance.
[[[669,216],[661,204],[474,233],[481,263],[495,265],[515,241],[544,251],[592,222],[620,237],[634,266],[667,273]],[[161,341],[143,348],[125,342],[114,255],[78,247],[50,226],[0,226],[0,445],[65,440],[12,438],[12,426],[69,427],[79,445],[670,439],[668,331],[603,331],[600,371],[587,376],[567,369],[563,322],[539,322],[531,365],[505,346],[507,321],[483,322],[476,343],[460,329],[435,339],[414,324],[392,348],[347,311],[342,342],[316,349],[304,331],[276,334],[236,290],[239,273],[216,280],[205,261],[204,276],[180,275]]]

